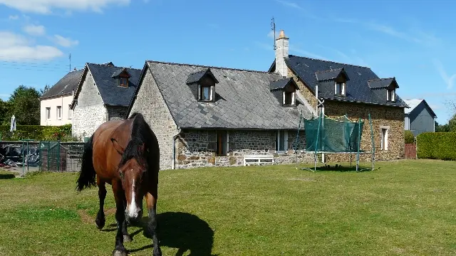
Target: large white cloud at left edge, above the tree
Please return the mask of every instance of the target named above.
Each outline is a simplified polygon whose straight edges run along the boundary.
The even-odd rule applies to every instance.
[[[35,46],[24,36],[0,31],[0,60],[51,60],[63,53],[53,46]]]

